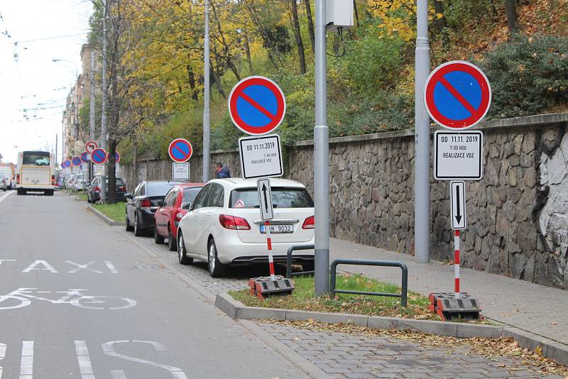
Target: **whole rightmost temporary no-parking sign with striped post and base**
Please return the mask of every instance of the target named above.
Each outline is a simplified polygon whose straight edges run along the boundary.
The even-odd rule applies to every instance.
[[[481,309],[467,292],[460,291],[459,239],[466,229],[464,180],[483,177],[483,133],[464,131],[479,123],[491,106],[491,86],[479,67],[461,60],[437,67],[428,77],[424,104],[430,118],[449,131],[436,131],[434,177],[452,180],[450,224],[454,230],[454,292],[430,294],[430,309],[442,319],[477,319]]]

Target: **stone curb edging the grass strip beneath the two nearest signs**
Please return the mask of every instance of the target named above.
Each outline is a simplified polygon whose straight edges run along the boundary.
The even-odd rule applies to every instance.
[[[297,311],[295,309],[246,307],[246,305],[234,300],[231,295],[226,293],[217,294],[215,306],[233,319],[275,319],[280,321],[315,320],[327,324],[354,324],[364,326],[368,329],[413,330],[457,338],[512,338],[520,347],[528,348],[530,351],[536,351],[536,348],[540,346],[542,356],[550,358],[564,366],[568,366],[568,346],[512,326],[401,319],[396,317],[365,316],[364,314],[306,312]]]

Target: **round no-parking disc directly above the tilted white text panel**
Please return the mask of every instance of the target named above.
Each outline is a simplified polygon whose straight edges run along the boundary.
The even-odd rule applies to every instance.
[[[229,94],[233,123],[251,136],[262,136],[278,128],[285,113],[284,92],[267,77],[242,79]]]

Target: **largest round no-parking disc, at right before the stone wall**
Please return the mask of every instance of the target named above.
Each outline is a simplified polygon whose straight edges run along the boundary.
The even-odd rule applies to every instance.
[[[484,119],[491,106],[491,86],[479,67],[454,60],[432,71],[425,85],[424,104],[440,126],[471,128]]]

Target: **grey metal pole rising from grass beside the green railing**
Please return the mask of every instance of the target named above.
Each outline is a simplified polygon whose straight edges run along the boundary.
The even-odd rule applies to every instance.
[[[327,128],[327,0],[315,2],[315,295],[329,294],[329,128]]]

